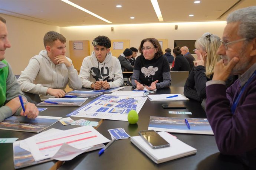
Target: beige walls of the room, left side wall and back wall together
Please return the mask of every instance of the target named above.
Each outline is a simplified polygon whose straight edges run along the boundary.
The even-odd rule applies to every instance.
[[[66,55],[69,56],[69,40],[89,40],[90,50],[92,51],[91,41],[98,35],[106,35],[110,39],[130,40],[130,46],[136,48],[139,47],[143,38],[154,37],[168,39],[168,46],[173,49],[174,40],[196,40],[206,32],[221,37],[226,25],[225,21],[217,21],[58,27],[4,14],[0,15],[7,20],[9,40],[12,47],[6,50],[5,57],[12,65],[14,74],[20,74],[26,68],[29,59],[44,49],[43,36],[50,30],[57,31],[67,38]],[[174,30],[175,25],[178,25],[178,30]],[[114,31],[111,31],[111,27],[114,27]]]

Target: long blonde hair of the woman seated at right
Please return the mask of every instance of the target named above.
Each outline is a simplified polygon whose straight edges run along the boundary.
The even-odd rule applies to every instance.
[[[217,50],[221,45],[220,37],[214,34],[205,33],[201,38],[198,38],[195,43],[197,49],[206,51],[207,58],[203,56],[205,75],[210,78],[214,72],[215,64],[220,60],[220,55],[217,55]]]

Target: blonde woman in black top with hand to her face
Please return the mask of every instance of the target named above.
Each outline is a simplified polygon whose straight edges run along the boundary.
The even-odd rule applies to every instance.
[[[184,85],[184,95],[187,98],[199,102],[206,98],[206,82],[212,79],[214,65],[220,60],[220,55],[216,54],[220,45],[220,37],[210,33],[205,33],[196,40],[197,60]]]

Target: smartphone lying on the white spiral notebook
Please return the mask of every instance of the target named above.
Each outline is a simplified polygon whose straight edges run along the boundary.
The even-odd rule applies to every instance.
[[[140,130],[139,134],[153,149],[170,146],[170,143],[164,140],[155,130]]]

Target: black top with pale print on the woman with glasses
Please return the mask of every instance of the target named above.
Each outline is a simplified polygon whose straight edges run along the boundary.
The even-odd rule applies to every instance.
[[[133,86],[136,86],[135,79],[144,85],[150,85],[158,80],[157,88],[169,87],[171,76],[167,58],[161,56],[158,59],[148,60],[143,55],[138,56],[134,64],[134,74],[132,75]]]

